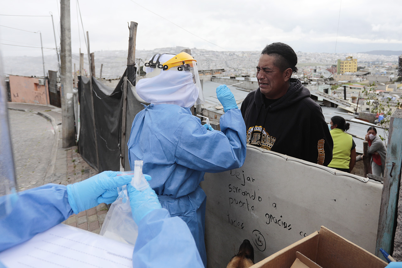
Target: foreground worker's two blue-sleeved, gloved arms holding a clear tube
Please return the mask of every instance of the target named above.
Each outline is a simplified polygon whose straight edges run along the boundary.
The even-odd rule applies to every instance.
[[[133,251],[133,267],[203,267],[193,236],[179,217],[162,209],[150,187],[140,192],[129,183],[128,175],[105,171],[67,186],[46,184],[19,194],[0,196],[0,203],[12,200],[12,209],[0,215],[0,252],[32,238],[37,233],[66,220],[73,213],[112,203],[117,187],[127,185],[138,237]],[[107,196],[107,197],[104,197]],[[0,262],[0,267],[5,267]]]

